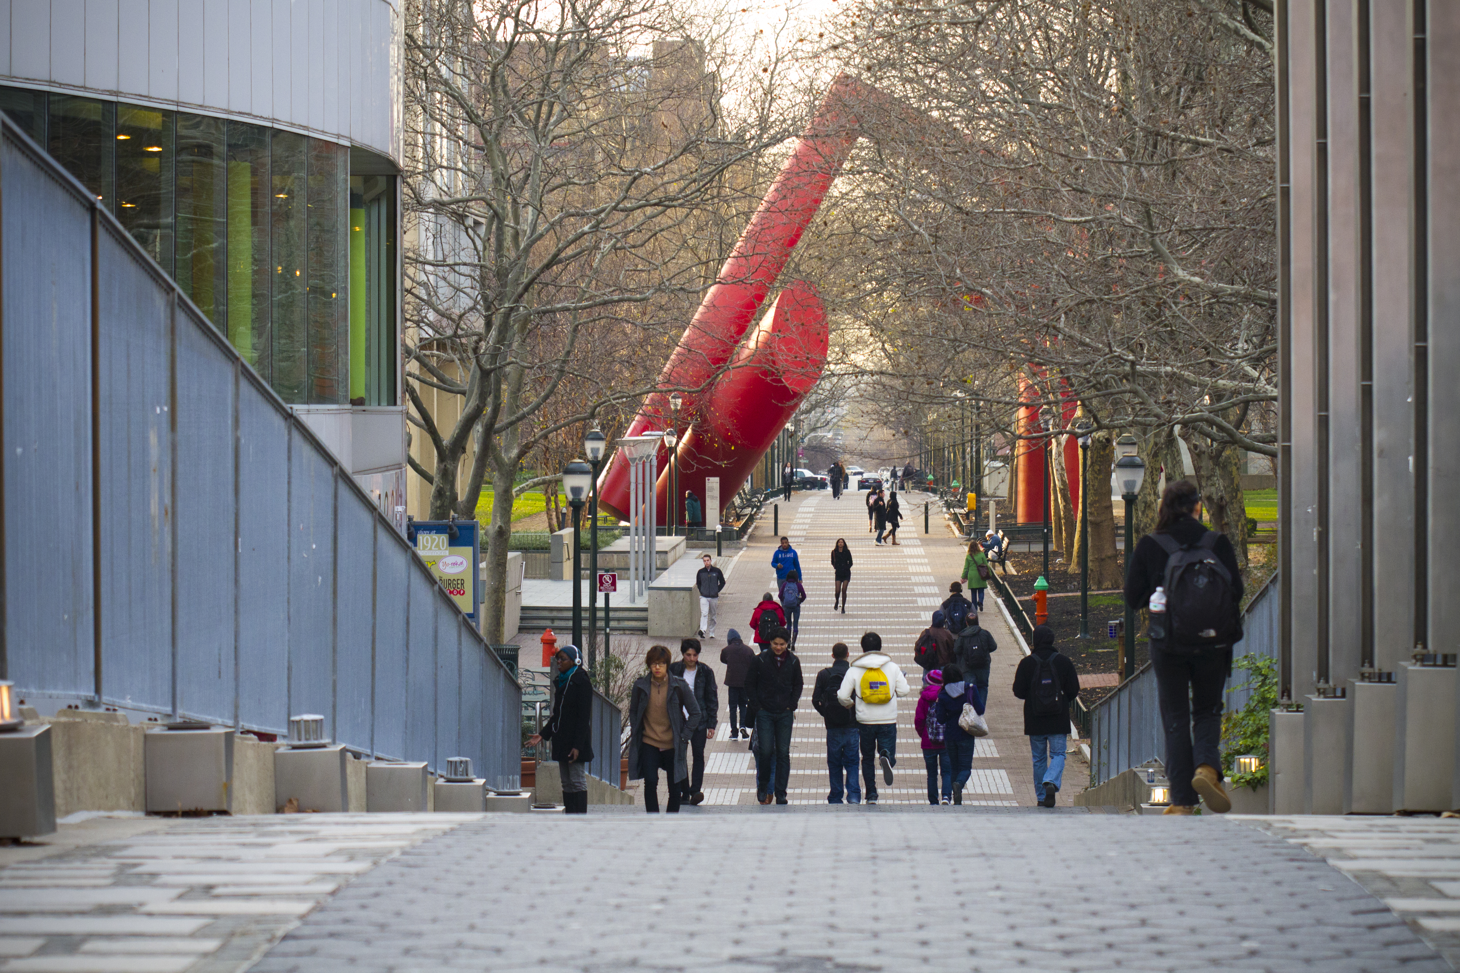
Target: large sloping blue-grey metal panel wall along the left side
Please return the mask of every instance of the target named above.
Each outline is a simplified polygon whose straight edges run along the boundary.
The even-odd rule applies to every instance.
[[[0,675],[520,777],[521,690],[79,183],[0,121]]]

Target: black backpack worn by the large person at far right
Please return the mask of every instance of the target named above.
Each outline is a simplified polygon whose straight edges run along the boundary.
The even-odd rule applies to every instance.
[[[1167,638],[1187,649],[1231,646],[1242,637],[1232,576],[1213,549],[1222,535],[1207,530],[1193,546],[1167,533],[1150,535],[1167,552]],[[1152,633],[1159,638],[1158,633]]]

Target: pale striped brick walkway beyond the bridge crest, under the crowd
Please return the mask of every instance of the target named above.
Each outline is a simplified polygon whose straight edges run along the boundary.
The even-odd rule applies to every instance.
[[[907,520],[899,530],[898,546],[873,543],[867,532],[866,494],[848,492],[832,500],[829,491],[797,492],[788,504],[780,504],[781,533],[800,554],[804,571],[806,603],[802,608],[800,638],[796,653],[806,675],[806,691],[796,711],[791,735],[791,779],[787,796],[791,804],[825,804],[828,793],[826,729],[812,709],[810,695],[816,672],[831,665],[832,643],[845,641],[851,657],[860,653],[858,640],[864,631],[882,636],[883,652],[892,656],[907,674],[912,694],[898,703],[898,766],[891,787],[877,785],[882,804],[926,805],[927,776],[923,766],[912,711],[921,688],[921,669],[912,662],[912,644],[918,633],[931,621],[933,612],[948,598],[948,586],[956,581],[964,567],[964,545],[949,533],[937,513],[929,520],[931,533],[923,533],[924,494],[908,497]],[[715,671],[720,687],[720,732],[705,747],[705,804],[685,808],[686,814],[710,806],[750,805],[755,802],[755,761],[748,741],[730,739],[729,709],[724,692],[724,666],[720,649],[730,628],[750,643],[750,614],[761,595],[775,589],[771,552],[780,539],[771,530],[769,508],[750,535],[746,548],[727,571],[727,587],[720,598],[718,638],[707,641],[704,657]],[[851,586],[845,614],[832,611],[831,549],[837,538],[845,538],[853,554]],[[999,643],[993,656],[988,692],[990,736],[980,741],[974,755],[974,776],[965,789],[965,805],[1013,806],[1034,805],[1034,776],[1028,738],[1023,736],[1023,704],[1013,697],[1013,671],[1021,659],[1019,640],[1010,633],[1003,615],[988,599],[980,624]],[[679,646],[672,644],[676,657]],[[1070,749],[1076,749],[1072,741]],[[1077,752],[1069,755],[1064,787],[1058,802],[1069,805],[1073,795],[1085,789],[1088,766]],[[663,805],[663,783],[660,783]],[[642,798],[635,786],[635,801]],[[950,809],[952,811],[952,809]]]

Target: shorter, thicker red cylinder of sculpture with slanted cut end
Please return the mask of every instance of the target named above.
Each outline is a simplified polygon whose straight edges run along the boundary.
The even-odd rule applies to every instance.
[[[777,295],[730,368],[715,380],[701,418],[675,451],[680,498],[692,489],[704,503],[705,478],[718,476],[721,504],[730,500],[821,380],[826,339],[826,311],[816,288],[796,281]],[[669,475],[666,466],[658,476],[661,508],[669,498]]]

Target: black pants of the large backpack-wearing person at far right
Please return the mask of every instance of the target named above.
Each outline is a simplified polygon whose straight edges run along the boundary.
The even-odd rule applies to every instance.
[[[1222,774],[1222,690],[1232,668],[1232,650],[1168,652],[1152,647],[1161,697],[1161,726],[1167,733],[1167,780],[1171,804],[1191,806],[1197,793],[1191,774],[1202,764]]]

